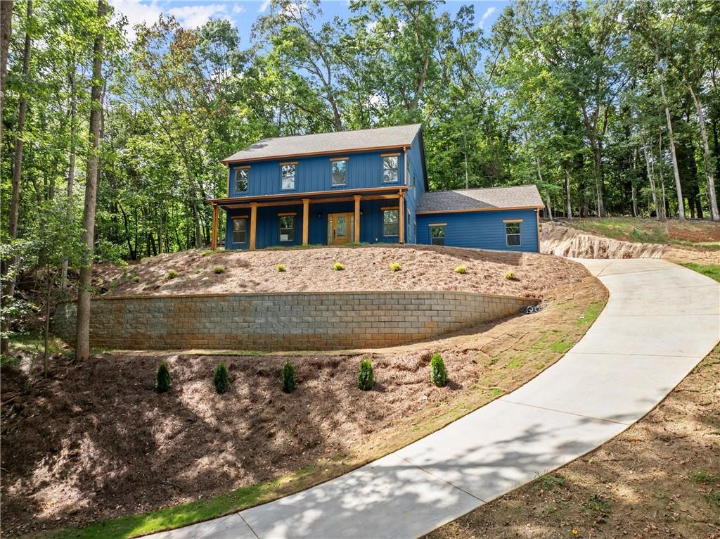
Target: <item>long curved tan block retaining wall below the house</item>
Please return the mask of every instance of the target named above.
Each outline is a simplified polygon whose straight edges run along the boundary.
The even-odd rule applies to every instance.
[[[468,292],[161,295],[91,302],[90,342],[118,349],[338,349],[436,337],[518,313],[539,300]],[[75,303],[55,333],[75,339]]]

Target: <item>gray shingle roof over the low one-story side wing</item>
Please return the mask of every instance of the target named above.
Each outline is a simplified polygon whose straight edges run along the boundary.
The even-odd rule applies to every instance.
[[[534,185],[459,189],[423,192],[418,213],[462,210],[498,210],[500,208],[542,208],[543,202]]]

